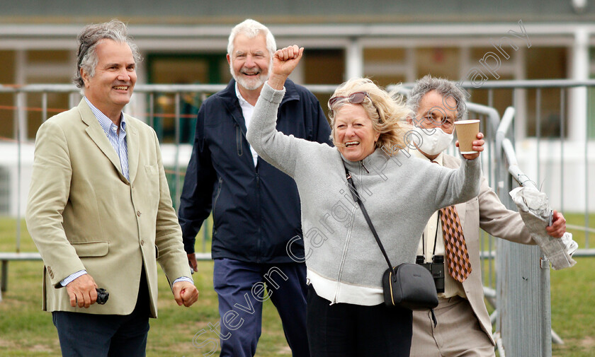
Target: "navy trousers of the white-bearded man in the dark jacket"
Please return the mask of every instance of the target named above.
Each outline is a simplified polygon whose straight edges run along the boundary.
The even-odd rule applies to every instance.
[[[262,303],[271,299],[279,312],[293,357],[310,357],[305,264],[215,259],[213,275],[221,320],[211,331],[219,335],[220,356],[254,356],[261,335]]]

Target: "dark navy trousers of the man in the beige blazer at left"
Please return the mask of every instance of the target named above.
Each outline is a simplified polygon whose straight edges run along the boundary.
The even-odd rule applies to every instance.
[[[109,300],[108,300],[109,303]],[[130,315],[52,312],[62,357],[145,357],[149,333],[149,291],[142,270],[135,310]]]

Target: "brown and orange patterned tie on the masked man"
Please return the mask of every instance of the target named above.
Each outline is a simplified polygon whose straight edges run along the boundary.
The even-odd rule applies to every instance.
[[[442,222],[448,274],[456,281],[463,283],[471,274],[471,263],[463,236],[463,227],[460,226],[455,206],[440,209],[440,221]]]

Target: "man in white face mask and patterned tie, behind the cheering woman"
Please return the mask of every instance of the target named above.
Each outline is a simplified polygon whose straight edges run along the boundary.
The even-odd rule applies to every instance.
[[[409,122],[417,127],[414,131],[423,139],[418,150],[410,150],[412,156],[458,168],[460,159],[443,151],[453,139],[453,123],[465,112],[465,94],[453,82],[425,76],[409,92],[407,104],[416,115]],[[480,228],[512,242],[535,244],[520,214],[506,209],[485,177],[480,194],[455,208],[463,226],[472,271],[460,283],[449,276],[444,258],[444,293],[438,294],[439,304],[434,309],[438,324],[433,324],[429,312],[414,311],[412,357],[494,356],[492,324],[484,303],[480,271]],[[547,230],[560,238],[566,230],[566,220],[561,213],[554,212],[553,224]],[[428,221],[418,250],[418,256],[424,256],[425,262],[432,262],[434,254],[445,255],[438,212]]]

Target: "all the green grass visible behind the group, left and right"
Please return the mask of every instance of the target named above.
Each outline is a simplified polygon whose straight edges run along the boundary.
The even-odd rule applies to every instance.
[[[584,224],[584,216],[565,214],[570,224]],[[589,217],[591,226],[595,215]],[[35,245],[26,226],[21,226],[21,251],[33,252]],[[584,233],[573,232],[584,247]],[[201,235],[199,235],[200,237]],[[10,218],[0,218],[0,251],[16,250],[16,225]],[[589,237],[595,246],[595,235]],[[197,242],[197,250],[201,250]],[[552,326],[565,341],[553,345],[556,357],[591,357],[595,354],[595,258],[577,258],[572,269],[551,271]],[[8,291],[0,303],[0,357],[60,356],[56,329],[51,314],[41,311],[42,262],[11,262],[8,269]],[[197,349],[193,336],[208,324],[219,320],[217,297],[212,288],[212,262],[199,262],[194,275],[200,291],[198,303],[180,308],[159,272],[159,318],[152,319],[147,356],[202,356],[208,348]],[[203,334],[198,342],[214,337]],[[213,356],[218,356],[215,353]],[[277,312],[270,301],[263,306],[263,330],[256,356],[291,356]]]

